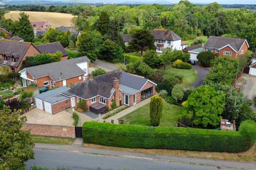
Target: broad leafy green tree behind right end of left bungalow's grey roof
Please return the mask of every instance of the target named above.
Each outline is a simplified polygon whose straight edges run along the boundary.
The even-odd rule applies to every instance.
[[[95,61],[99,55],[103,40],[98,32],[85,31],[78,37],[76,42],[78,51],[86,55],[91,61]]]

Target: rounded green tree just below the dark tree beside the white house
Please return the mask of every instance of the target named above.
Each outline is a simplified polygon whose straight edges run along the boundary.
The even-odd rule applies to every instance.
[[[143,56],[143,62],[148,64],[151,68],[157,68],[163,63],[162,57],[157,56],[156,50],[150,50]]]

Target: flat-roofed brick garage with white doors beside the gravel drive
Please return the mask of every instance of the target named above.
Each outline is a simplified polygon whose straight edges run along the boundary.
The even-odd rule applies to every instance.
[[[68,87],[59,87],[36,95],[36,107],[52,114],[58,113],[68,107],[71,107],[72,98],[61,95],[61,92],[67,91],[69,89],[70,88]]]

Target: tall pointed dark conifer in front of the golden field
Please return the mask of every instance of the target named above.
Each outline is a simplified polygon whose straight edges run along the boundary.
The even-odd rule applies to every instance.
[[[15,34],[28,42],[34,39],[34,30],[25,12],[20,13],[20,18],[17,23],[17,32],[15,32]]]

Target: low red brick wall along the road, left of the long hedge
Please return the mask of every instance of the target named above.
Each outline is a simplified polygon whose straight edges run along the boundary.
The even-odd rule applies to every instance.
[[[30,131],[33,135],[50,137],[76,138],[74,126],[43,125],[43,124],[23,124],[21,130]]]

